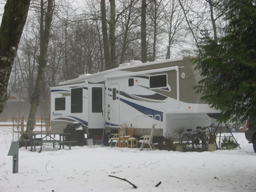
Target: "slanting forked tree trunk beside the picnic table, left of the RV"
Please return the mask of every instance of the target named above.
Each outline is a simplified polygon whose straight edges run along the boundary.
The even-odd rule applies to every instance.
[[[43,6],[43,0],[41,0],[41,11]],[[43,81],[43,73],[45,71],[46,66],[46,56],[48,51],[48,43],[49,43],[49,36],[50,36],[50,29],[52,23],[52,15],[53,15],[53,0],[48,0],[47,5],[47,13],[45,15],[45,29],[43,29],[43,19],[41,18],[40,23],[40,55],[38,59],[39,68],[37,73],[36,85],[34,87],[34,92],[31,97],[31,108],[30,108],[30,116],[28,117],[27,129],[26,132],[32,132],[34,129],[35,117],[36,117],[36,110],[39,105],[40,99],[40,90],[42,88],[42,81]],[[41,15],[41,17],[43,14]]]

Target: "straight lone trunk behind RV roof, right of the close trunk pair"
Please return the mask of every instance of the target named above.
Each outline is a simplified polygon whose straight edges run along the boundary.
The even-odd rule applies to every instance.
[[[146,63],[146,0],[142,0],[142,28],[141,28],[141,36],[142,36],[142,63]]]

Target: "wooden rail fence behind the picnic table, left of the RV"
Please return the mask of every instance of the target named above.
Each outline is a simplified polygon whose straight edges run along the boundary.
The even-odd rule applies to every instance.
[[[0,117],[0,122],[2,120],[12,120],[13,124],[0,124],[0,128],[1,126],[13,126],[13,132],[24,133],[24,128],[27,127],[27,124],[24,125],[24,120],[28,120],[28,117]],[[41,127],[41,131],[33,132],[51,132],[50,120],[50,117],[43,118],[43,116],[41,116],[40,118],[35,118],[35,122],[39,122],[40,124],[36,124],[34,125],[34,127]]]

